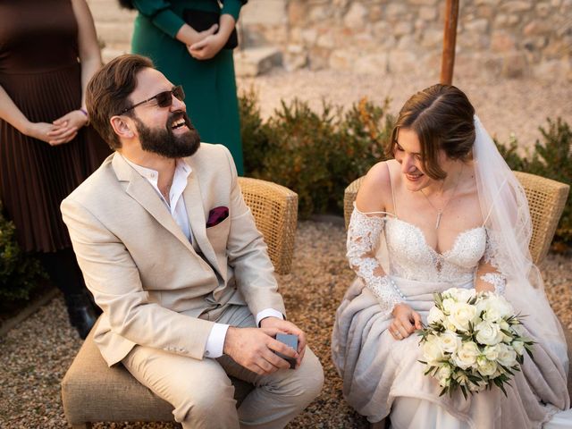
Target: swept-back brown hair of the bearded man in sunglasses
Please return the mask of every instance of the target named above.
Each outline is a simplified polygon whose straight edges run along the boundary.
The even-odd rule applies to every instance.
[[[86,105],[89,121],[109,147],[122,147],[109,120],[130,107],[130,94],[137,87],[137,74],[153,68],[153,62],[142,55],[120,55],[106,63],[88,82]],[[123,113],[131,115],[128,111]]]

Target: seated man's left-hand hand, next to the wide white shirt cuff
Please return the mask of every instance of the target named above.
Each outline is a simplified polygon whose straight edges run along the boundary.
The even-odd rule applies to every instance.
[[[274,354],[299,358],[296,350],[276,341],[273,337],[281,330],[276,328],[229,327],[224,339],[223,353],[253,373],[272,374],[279,369],[288,369],[290,364]]]

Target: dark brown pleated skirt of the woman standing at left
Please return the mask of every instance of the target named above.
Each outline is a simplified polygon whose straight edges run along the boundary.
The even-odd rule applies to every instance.
[[[53,122],[80,108],[80,64],[34,73],[0,73],[0,85],[31,122]],[[0,120],[0,199],[26,251],[71,247],[60,203],[91,172],[109,147],[90,127],[70,143],[51,147]]]

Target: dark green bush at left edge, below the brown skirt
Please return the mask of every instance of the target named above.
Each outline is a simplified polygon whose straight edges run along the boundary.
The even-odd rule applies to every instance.
[[[0,301],[29,299],[29,293],[46,278],[36,259],[21,251],[14,237],[14,225],[5,219],[0,203]]]

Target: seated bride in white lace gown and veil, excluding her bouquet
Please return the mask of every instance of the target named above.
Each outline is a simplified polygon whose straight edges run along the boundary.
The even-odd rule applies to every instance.
[[[349,404],[394,428],[541,427],[569,407],[566,342],[528,252],[526,195],[458,88],[409,98],[348,231],[357,279],[336,313],[334,365]],[[525,315],[534,360],[506,385],[467,400],[424,375],[419,337],[433,292],[494,290]]]

